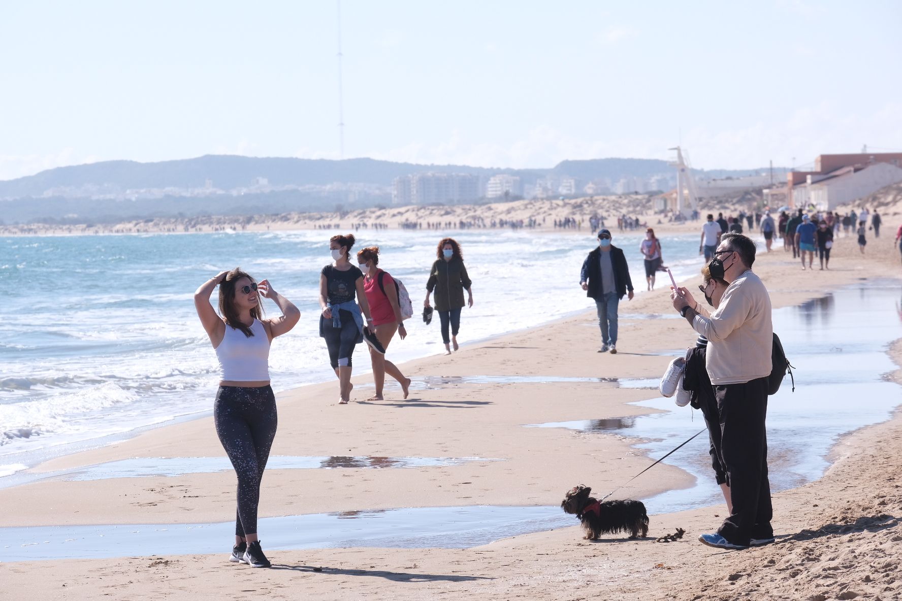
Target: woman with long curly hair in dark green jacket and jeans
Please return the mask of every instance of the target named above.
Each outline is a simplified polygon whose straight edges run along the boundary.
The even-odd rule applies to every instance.
[[[436,311],[442,322],[442,341],[445,342],[445,354],[451,354],[451,345],[456,351],[457,332],[460,330],[460,310],[464,308],[464,290],[469,298],[467,306],[473,306],[473,289],[469,276],[466,275],[464,257],[460,253],[460,244],[454,238],[444,238],[438,242],[437,260],[429,271],[426,282],[426,300],[436,291]],[[448,324],[451,325],[451,336],[448,337]]]

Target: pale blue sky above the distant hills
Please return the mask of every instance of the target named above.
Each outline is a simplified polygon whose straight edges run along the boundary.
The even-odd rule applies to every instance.
[[[796,166],[902,150],[902,3],[344,0],[345,158]],[[0,179],[337,159],[336,2],[0,4]]]

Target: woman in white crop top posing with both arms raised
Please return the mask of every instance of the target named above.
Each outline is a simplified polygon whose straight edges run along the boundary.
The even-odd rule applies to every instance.
[[[210,304],[217,285],[218,314]],[[281,316],[262,319],[260,296],[279,305]],[[257,536],[257,505],[278,423],[270,387],[270,343],[298,323],[300,312],[268,280],[257,284],[241,268],[208,279],[194,293],[194,305],[222,372],[213,409],[216,435],[238,476],[235,546],[229,560],[269,568]]]

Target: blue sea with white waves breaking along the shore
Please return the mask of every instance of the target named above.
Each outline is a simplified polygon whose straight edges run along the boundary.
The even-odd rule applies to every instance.
[[[342,231],[344,232],[344,231]],[[173,420],[208,414],[216,394],[216,355],[195,313],[193,294],[223,269],[241,266],[301,311],[272,344],[272,387],[335,378],[318,337],[319,271],[338,231],[216,232],[0,238],[0,477],[37,460],[96,446]],[[428,270],[443,234],[355,232],[354,251],[378,245],[380,267],[410,290],[409,336],[391,345],[400,362],[444,351],[438,319],[422,323]],[[594,308],[578,286],[594,232],[448,232],[463,248],[474,307],[459,340],[485,339]],[[645,290],[641,233],[614,232],[637,292]],[[677,278],[695,276],[698,238],[663,239]],[[658,274],[658,287],[667,287]],[[216,293],[212,297],[216,305]],[[626,300],[624,299],[624,303]],[[264,300],[267,315],[279,314]],[[586,336],[597,331],[586,329]],[[356,374],[369,369],[363,348]],[[453,360],[453,359],[449,359]],[[324,402],[332,402],[330,396]]]

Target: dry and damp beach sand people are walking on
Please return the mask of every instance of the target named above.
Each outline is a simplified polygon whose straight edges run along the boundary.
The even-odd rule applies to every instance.
[[[895,226],[870,240],[862,258],[854,239],[834,246],[832,269],[802,271],[778,244],[759,252],[754,269],[775,308],[797,305],[864,279],[897,278]],[[694,230],[697,227],[693,228]],[[702,261],[699,261],[701,268]],[[640,282],[641,274],[633,274]],[[594,307],[575,317],[466,345],[450,358],[403,366],[424,376],[540,375],[659,378],[676,351],[695,340],[683,320],[630,319],[672,314],[667,290],[621,301],[617,355],[599,355]],[[690,288],[692,289],[692,288]],[[575,288],[574,294],[582,294]],[[462,334],[465,333],[465,315]],[[432,327],[435,327],[433,324]],[[462,336],[463,337],[463,336]],[[394,344],[402,344],[395,341]],[[902,363],[902,342],[890,350]],[[358,353],[359,354],[359,353]],[[390,351],[391,356],[391,351]],[[360,355],[363,359],[363,355]],[[325,360],[325,351],[324,351]],[[902,370],[891,376],[902,382]],[[355,400],[372,393],[354,378]],[[211,390],[211,403],[214,391]],[[422,469],[270,469],[261,516],[409,506],[559,505],[569,487],[603,494],[651,463],[634,440],[524,424],[622,417],[647,410],[630,401],[654,391],[613,382],[472,384],[413,390],[400,400],[387,388],[381,403],[336,405],[335,383],[279,396],[273,455],[481,457]],[[902,398],[902,396],[900,396]],[[38,469],[72,468],[131,457],[224,456],[212,419],[143,433]],[[686,530],[680,541],[585,542],[577,526],[503,539],[467,550],[326,549],[271,551],[277,569],[216,555],[111,560],[48,560],[4,565],[0,598],[464,598],[480,599],[892,599],[902,596],[902,414],[842,438],[823,478],[774,496],[778,542],[748,551],[718,551],[696,542],[713,532],[724,505],[652,516],[649,536]],[[651,473],[651,472],[649,472]],[[623,495],[645,497],[688,487],[693,478],[658,465]],[[184,524],[234,516],[231,472],[175,478],[43,481],[0,490],[0,526],[51,524]],[[574,524],[576,524],[574,520]],[[266,549],[266,533],[261,532]]]

